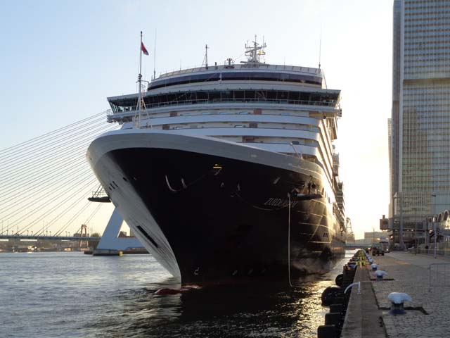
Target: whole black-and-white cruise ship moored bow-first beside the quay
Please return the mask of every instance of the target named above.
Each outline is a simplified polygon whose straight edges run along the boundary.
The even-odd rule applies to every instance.
[[[255,39],[256,40],[256,39]],[[247,61],[153,77],[109,97],[120,130],[86,157],[143,246],[181,284],[289,280],[345,251],[340,90],[319,68]]]

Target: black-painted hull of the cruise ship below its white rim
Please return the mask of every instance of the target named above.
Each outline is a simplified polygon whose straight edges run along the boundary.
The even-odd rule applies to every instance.
[[[293,273],[320,272],[344,253],[342,232],[325,197],[292,199],[288,207],[288,193],[295,188],[321,193],[317,177],[172,149],[118,149],[104,156],[123,175],[116,187],[105,189],[111,189],[113,201],[113,189],[121,186],[142,199],[172,247],[183,284],[286,278],[288,252]],[[146,246],[158,249],[151,233],[123,216],[148,239]]]

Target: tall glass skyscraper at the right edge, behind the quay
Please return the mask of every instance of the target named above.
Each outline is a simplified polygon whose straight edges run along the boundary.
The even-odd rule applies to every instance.
[[[390,215],[450,207],[450,0],[394,0]]]

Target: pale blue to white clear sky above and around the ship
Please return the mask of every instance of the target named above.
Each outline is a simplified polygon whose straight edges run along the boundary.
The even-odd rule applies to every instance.
[[[210,64],[243,60],[255,35],[267,63],[317,67],[320,50],[328,88],[342,95],[346,213],[357,238],[378,230],[389,203],[392,0],[0,1],[0,150],[136,92],[141,30],[147,80],[154,67],[160,75],[201,65],[205,44]]]

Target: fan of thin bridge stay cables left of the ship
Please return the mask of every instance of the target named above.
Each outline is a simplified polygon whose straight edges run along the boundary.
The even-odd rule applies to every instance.
[[[0,239],[69,238],[82,224],[103,230],[114,207],[88,201],[99,183],[85,154],[96,136],[118,129],[107,113],[0,149]]]

